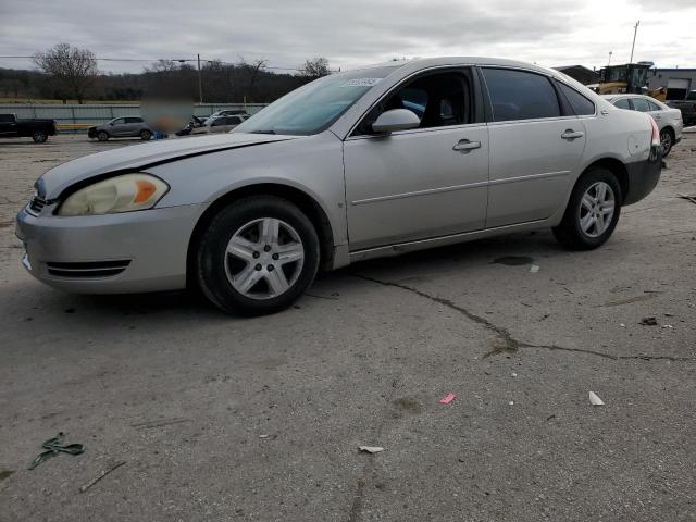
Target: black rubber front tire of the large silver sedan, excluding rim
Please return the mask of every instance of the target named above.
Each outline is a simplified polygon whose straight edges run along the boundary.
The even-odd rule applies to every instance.
[[[298,234],[303,250],[299,276],[275,297],[253,299],[237,291],[227,278],[225,254],[233,235],[247,224],[265,217],[282,220]],[[256,254],[254,254],[256,256]],[[238,315],[264,315],[289,307],[312,284],[320,263],[320,245],[310,220],[295,204],[275,196],[252,196],[223,208],[200,237],[196,254],[196,278],[208,299],[221,310]]]

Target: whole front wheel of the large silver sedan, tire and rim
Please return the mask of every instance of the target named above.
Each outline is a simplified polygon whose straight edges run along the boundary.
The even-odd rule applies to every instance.
[[[197,276],[222,310],[263,315],[289,307],[319,269],[319,237],[289,201],[254,196],[222,209],[203,233]]]

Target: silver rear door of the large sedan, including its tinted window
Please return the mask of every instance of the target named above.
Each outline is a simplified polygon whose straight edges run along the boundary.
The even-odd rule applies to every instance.
[[[482,72],[492,112],[486,227],[549,217],[581,163],[582,119],[567,114],[568,102],[544,74],[505,67]]]

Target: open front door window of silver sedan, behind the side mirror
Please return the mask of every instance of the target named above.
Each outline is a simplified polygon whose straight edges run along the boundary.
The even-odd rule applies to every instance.
[[[462,72],[425,74],[391,91],[360,122],[353,135],[372,134],[372,124],[383,112],[408,109],[421,124],[418,128],[474,123],[473,89]]]

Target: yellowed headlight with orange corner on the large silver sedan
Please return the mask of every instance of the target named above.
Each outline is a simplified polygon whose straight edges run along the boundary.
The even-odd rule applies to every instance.
[[[72,194],[58,215],[95,215],[151,209],[169,185],[150,174],[124,174],[95,183]]]

